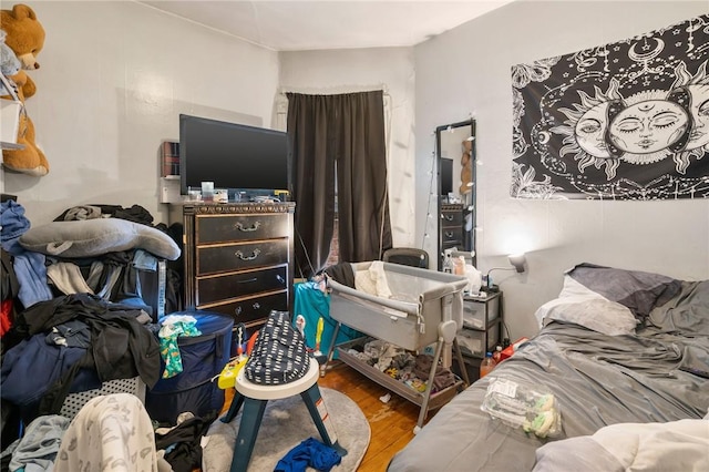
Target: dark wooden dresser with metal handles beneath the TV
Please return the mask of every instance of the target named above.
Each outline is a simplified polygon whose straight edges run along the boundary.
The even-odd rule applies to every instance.
[[[184,225],[184,307],[255,327],[292,298],[295,203],[173,205]]]

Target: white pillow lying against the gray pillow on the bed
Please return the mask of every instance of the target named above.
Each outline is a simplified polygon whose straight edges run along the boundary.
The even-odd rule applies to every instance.
[[[637,326],[637,319],[627,307],[593,295],[556,298],[542,305],[534,316],[540,327],[551,321],[565,321],[608,336],[633,335]]]

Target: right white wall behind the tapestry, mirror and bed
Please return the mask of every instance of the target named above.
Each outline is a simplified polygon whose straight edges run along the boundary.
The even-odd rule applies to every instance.
[[[493,273],[504,290],[512,339],[536,332],[535,309],[558,294],[563,270],[578,263],[708,278],[709,201],[512,199],[511,65],[623,40],[707,11],[706,1],[517,1],[415,47],[417,182],[425,181],[431,131],[472,113],[483,162],[479,268],[506,266],[507,254],[527,250],[526,274]],[[424,207],[419,184],[419,232],[427,223]]]

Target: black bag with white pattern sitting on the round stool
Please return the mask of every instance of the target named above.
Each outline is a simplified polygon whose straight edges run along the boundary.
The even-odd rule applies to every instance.
[[[254,383],[279,386],[300,379],[309,368],[305,339],[292,327],[288,311],[273,310],[258,331],[244,376]]]

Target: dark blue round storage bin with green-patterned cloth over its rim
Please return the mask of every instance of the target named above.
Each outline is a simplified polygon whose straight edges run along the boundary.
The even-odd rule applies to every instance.
[[[234,319],[204,310],[171,315],[195,317],[202,335],[177,338],[183,371],[163,379],[165,363],[161,361],[161,379],[145,394],[145,409],[153,420],[169,424],[175,424],[177,415],[185,411],[202,418],[218,414],[224,406],[224,390],[212,379],[229,361]]]

